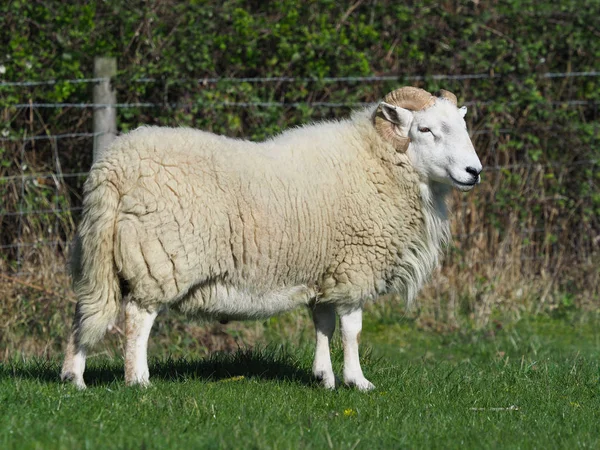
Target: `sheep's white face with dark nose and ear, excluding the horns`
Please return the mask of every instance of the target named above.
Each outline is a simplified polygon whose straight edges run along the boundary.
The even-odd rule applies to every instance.
[[[475,153],[464,117],[466,106],[437,98],[420,111],[381,103],[383,116],[400,136],[410,139],[407,153],[421,177],[469,191],[480,181],[481,162]]]

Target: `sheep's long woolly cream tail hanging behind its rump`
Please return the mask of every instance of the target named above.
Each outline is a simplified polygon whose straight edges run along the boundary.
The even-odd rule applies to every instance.
[[[77,296],[74,335],[79,345],[90,347],[114,324],[121,303],[113,249],[119,193],[101,170],[92,170],[85,190],[71,273]]]

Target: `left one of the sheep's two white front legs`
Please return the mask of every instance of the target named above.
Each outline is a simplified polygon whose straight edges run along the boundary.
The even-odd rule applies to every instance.
[[[331,367],[329,343],[335,331],[335,308],[331,304],[317,303],[312,309],[317,335],[313,374],[327,389],[335,388],[335,375]]]

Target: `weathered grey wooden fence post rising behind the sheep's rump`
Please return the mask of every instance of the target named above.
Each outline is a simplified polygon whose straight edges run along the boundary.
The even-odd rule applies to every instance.
[[[117,135],[117,94],[111,87],[110,79],[117,75],[117,58],[94,58],[94,78],[104,80],[94,85],[94,103],[107,106],[94,107],[94,161],[110,145]]]

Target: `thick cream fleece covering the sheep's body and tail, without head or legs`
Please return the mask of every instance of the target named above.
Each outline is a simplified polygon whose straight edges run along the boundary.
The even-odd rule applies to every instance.
[[[446,192],[419,181],[374,111],[262,143],[159,127],[118,138],[86,183],[75,286],[98,325],[84,342],[116,315],[118,279],[143,307],[221,319],[411,301],[448,237]]]

